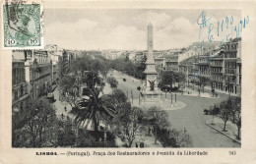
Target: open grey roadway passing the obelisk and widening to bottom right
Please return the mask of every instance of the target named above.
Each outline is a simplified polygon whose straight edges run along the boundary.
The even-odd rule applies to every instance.
[[[128,97],[131,97],[133,92],[134,101],[138,101],[139,91],[137,86],[141,85],[140,80],[129,78],[127,75],[122,75],[116,71],[112,73],[118,81],[118,87],[121,88]],[[123,78],[126,82],[123,82]],[[228,137],[224,137],[212,128],[208,127],[205,122],[211,119],[211,116],[204,115],[204,109],[209,109],[211,105],[219,103],[228,95],[219,94],[219,98],[203,98],[199,96],[177,95],[177,100],[186,103],[186,107],[178,110],[168,110],[169,122],[172,128],[180,130],[186,129],[187,133],[192,137],[194,147],[240,147],[239,143],[232,141]],[[165,95],[162,95],[164,98]],[[170,95],[167,94],[167,98]]]

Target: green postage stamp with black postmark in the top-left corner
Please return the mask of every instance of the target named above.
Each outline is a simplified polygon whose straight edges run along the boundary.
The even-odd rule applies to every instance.
[[[38,49],[43,47],[42,7],[40,3],[21,1],[2,5],[4,49]]]

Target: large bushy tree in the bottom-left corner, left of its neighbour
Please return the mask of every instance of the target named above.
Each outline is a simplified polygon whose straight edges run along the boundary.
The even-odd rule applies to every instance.
[[[29,99],[26,104],[27,123],[18,132],[18,147],[48,147],[56,145],[55,109],[45,98]]]

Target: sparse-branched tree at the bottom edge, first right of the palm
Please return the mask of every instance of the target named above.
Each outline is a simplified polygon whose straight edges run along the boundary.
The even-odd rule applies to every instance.
[[[122,136],[127,141],[127,146],[131,147],[133,141],[141,130],[141,121],[143,120],[144,112],[139,107],[126,106],[113,120],[113,133],[117,136]]]

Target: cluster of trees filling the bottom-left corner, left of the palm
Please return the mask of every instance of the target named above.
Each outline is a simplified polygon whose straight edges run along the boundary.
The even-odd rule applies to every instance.
[[[13,116],[14,147],[72,146],[76,139],[71,119],[56,116],[54,106],[45,98],[29,98],[24,111]]]

